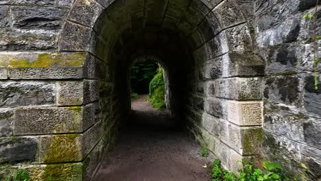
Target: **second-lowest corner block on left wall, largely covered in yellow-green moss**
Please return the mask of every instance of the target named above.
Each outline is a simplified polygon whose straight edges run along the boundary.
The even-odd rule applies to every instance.
[[[44,163],[82,160],[82,135],[60,134],[41,136],[39,160]]]

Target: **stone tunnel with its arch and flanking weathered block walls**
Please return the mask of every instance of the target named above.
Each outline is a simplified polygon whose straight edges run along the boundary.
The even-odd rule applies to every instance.
[[[311,39],[321,11],[316,28],[302,19],[315,8],[315,0],[1,0],[0,162],[36,180],[90,180],[130,113],[130,68],[148,58],[165,69],[177,124],[224,167],[271,160],[318,180]]]

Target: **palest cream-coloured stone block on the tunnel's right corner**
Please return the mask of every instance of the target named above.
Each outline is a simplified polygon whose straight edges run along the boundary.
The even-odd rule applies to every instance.
[[[228,101],[228,121],[236,125],[262,125],[262,101]]]

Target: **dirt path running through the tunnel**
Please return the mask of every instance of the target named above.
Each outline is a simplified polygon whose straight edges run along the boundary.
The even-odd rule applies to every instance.
[[[174,129],[165,111],[155,110],[142,95],[132,101],[130,128],[100,167],[93,180],[108,181],[208,181],[198,156],[200,146],[185,132]]]

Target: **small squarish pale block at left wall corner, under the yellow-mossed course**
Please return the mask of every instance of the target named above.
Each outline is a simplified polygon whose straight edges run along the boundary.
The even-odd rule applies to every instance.
[[[58,106],[82,105],[84,101],[83,81],[59,81],[57,82]]]

